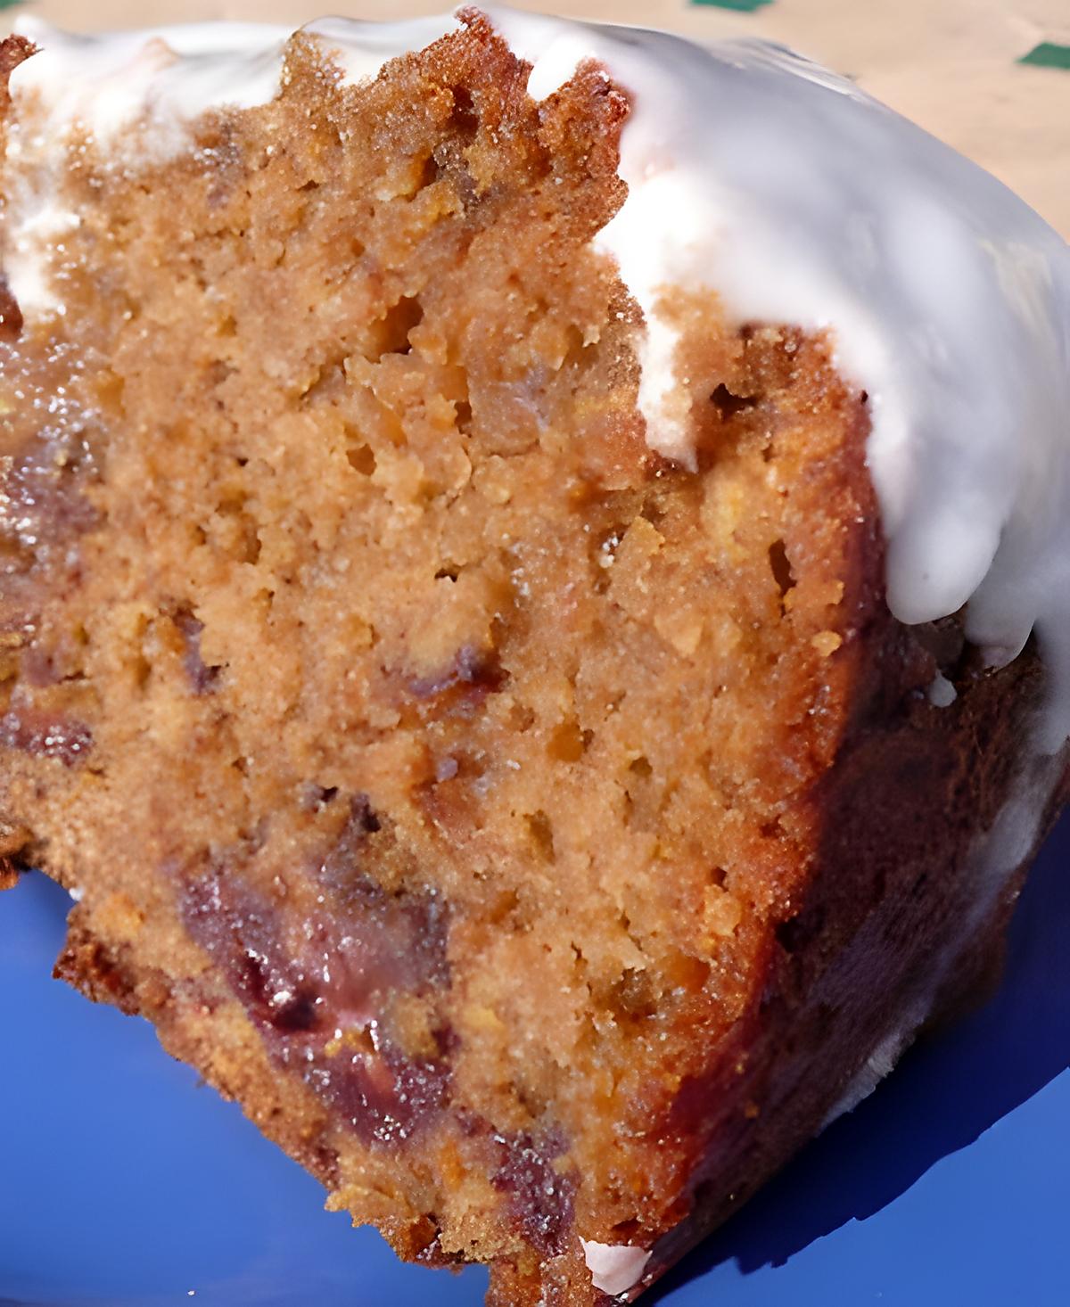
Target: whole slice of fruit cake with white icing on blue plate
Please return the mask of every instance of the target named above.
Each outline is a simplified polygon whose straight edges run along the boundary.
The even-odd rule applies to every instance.
[[[631,1300],[998,961],[1070,254],[786,51],[0,46],[0,835],[397,1252]]]

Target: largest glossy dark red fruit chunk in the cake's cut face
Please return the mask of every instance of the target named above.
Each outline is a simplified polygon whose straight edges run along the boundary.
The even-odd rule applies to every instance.
[[[430,1056],[410,1056],[391,1030],[391,1000],[448,984],[446,916],[430,895],[388,894],[355,852],[378,822],[354,800],[319,876],[337,894],[315,919],[294,923],[216,867],[187,885],[192,937],[219,966],[277,1061],[363,1138],[408,1138],[447,1103],[449,1035]]]

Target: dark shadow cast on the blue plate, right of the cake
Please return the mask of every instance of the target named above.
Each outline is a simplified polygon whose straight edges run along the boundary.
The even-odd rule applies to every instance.
[[[1070,812],[1037,859],[1011,924],[999,992],[921,1040],[644,1302],[736,1260],[781,1266],[815,1239],[892,1202],[1070,1067]],[[864,1159],[864,1165],[860,1165]]]

